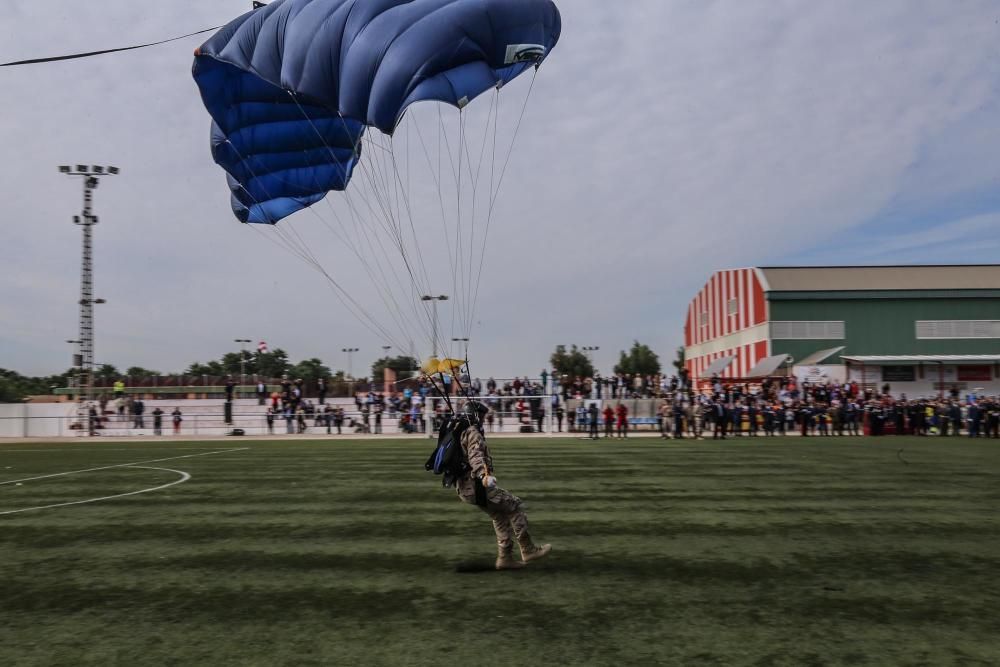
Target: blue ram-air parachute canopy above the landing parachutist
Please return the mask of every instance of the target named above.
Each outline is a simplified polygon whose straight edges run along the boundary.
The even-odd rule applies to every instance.
[[[212,154],[233,211],[276,223],[343,190],[366,127],[407,107],[464,107],[541,63],[559,39],[551,0],[276,0],[195,52]]]

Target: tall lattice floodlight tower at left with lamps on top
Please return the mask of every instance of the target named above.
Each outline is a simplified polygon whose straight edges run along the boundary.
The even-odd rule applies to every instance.
[[[78,164],[59,167],[60,174],[83,178],[83,212],[74,215],[73,222],[83,227],[83,262],[80,275],[80,382],[77,388],[81,406],[93,399],[94,393],[94,304],[106,303],[94,298],[93,231],[97,216],[92,213],[93,192],[102,176],[117,176],[118,167]]]

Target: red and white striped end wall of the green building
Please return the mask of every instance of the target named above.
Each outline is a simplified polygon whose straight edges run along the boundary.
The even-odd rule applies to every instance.
[[[721,377],[744,377],[771,354],[765,284],[760,269],[718,271],[691,301],[684,348],[692,378],[730,356]]]

